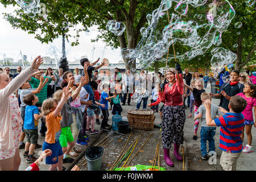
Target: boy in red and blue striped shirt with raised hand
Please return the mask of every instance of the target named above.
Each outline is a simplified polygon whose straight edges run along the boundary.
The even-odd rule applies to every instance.
[[[242,111],[247,102],[240,96],[233,96],[229,102],[229,113],[222,117],[210,117],[210,100],[205,101],[206,121],[208,126],[220,126],[220,150],[222,150],[220,164],[225,171],[236,171],[237,159],[242,152],[242,129],[244,117]],[[220,108],[221,109],[221,108]]]

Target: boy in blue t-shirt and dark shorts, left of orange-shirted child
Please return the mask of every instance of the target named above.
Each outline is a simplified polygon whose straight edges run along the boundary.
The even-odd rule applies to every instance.
[[[38,120],[42,117],[42,114],[39,114],[39,108],[35,106],[38,102],[38,97],[35,94],[27,94],[24,96],[23,102],[27,105],[24,117],[24,132],[27,142],[23,158],[27,158],[27,163],[34,163],[36,158],[33,154],[38,143]]]

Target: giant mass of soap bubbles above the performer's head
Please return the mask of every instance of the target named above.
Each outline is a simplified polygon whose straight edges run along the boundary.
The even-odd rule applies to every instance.
[[[211,46],[220,46],[235,11],[226,0],[162,0],[158,9],[148,14],[147,27],[141,28],[142,39],[134,49],[121,50],[122,56],[142,69],[156,60],[191,60]]]

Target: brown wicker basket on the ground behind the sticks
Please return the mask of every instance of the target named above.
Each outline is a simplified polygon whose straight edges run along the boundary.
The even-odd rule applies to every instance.
[[[155,115],[152,110],[131,109],[127,111],[129,125],[133,130],[150,130],[154,129]]]

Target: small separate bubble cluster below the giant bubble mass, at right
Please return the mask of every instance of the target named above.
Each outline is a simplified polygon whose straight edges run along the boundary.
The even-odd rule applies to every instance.
[[[234,60],[237,59],[237,55],[235,53],[222,47],[213,48],[210,53],[212,54],[210,64],[212,65],[214,73],[220,72],[225,65],[232,64]]]

